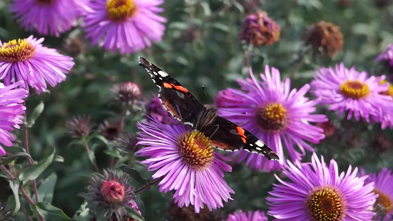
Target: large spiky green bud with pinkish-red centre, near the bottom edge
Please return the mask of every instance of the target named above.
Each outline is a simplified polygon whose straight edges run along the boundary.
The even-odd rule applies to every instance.
[[[81,193],[95,217],[112,217],[112,220],[124,220],[127,211],[140,211],[132,199],[130,176],[113,170],[103,171],[104,175],[94,175],[87,187],[87,193]],[[126,219],[127,220],[127,219]]]

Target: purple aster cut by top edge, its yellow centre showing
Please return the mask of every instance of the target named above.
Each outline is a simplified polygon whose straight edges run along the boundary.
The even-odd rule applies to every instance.
[[[158,15],[163,0],[92,0],[92,9],[84,17],[83,28],[92,44],[133,53],[150,47],[151,41],[161,41],[167,20]]]

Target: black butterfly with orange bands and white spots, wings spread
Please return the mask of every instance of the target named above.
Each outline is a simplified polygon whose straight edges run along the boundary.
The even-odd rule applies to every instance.
[[[236,123],[218,116],[217,109],[205,107],[167,72],[143,57],[139,57],[139,64],[160,88],[158,98],[165,109],[179,122],[188,124],[210,137],[211,145],[224,151],[244,149],[261,154],[269,160],[279,160],[277,154],[264,142]]]

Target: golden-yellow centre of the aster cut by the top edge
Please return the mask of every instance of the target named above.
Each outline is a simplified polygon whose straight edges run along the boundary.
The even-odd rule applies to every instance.
[[[126,18],[133,17],[137,7],[132,0],[108,0],[107,11],[110,20],[123,21]]]

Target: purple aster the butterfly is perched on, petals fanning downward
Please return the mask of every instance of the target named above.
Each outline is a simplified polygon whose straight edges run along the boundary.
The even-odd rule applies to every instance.
[[[168,125],[155,120],[139,122],[141,130],[137,145],[145,145],[136,152],[148,156],[143,163],[149,171],[158,170],[154,179],[163,177],[160,191],[175,190],[173,195],[179,207],[193,205],[195,212],[207,204],[209,210],[222,207],[235,193],[228,186],[224,171],[232,168],[222,160],[228,158],[215,152],[210,140],[196,130],[187,129],[183,124]]]

